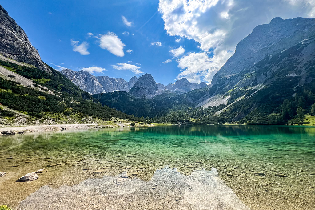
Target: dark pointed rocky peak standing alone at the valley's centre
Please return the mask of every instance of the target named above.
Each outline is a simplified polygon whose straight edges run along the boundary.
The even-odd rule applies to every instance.
[[[151,74],[144,74],[139,77],[135,85],[129,90],[129,94],[139,98],[153,98],[161,93],[162,91],[158,89]]]

